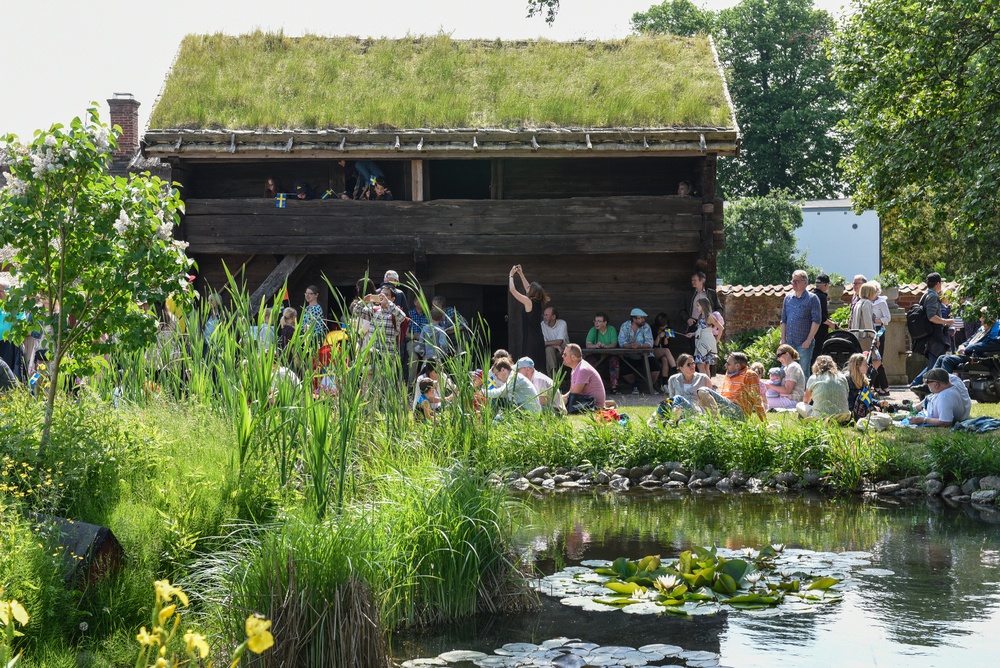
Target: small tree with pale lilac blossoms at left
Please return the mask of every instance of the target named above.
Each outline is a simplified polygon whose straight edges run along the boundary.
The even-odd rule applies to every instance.
[[[183,300],[190,288],[186,243],[173,239],[182,203],[156,177],[107,174],[115,133],[97,109],[89,122],[53,125],[22,144],[14,135],[0,143],[0,164],[9,165],[0,189],[0,245],[12,245],[6,311],[25,314],[12,327],[23,338],[32,329],[48,333],[50,362],[45,419],[39,446],[44,453],[61,366],[72,359],[76,373],[112,345],[149,345],[155,314],[140,302]]]

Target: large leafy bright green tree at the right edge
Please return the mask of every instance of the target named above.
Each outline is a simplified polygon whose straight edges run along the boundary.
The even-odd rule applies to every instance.
[[[855,206],[950,219],[966,296],[1000,314],[1000,2],[860,0],[832,54]]]

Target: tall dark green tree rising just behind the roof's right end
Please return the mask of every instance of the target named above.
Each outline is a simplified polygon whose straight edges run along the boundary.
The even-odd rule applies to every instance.
[[[714,34],[743,135],[740,155],[719,162],[727,198],[841,190],[844,94],[824,45],[833,30],[812,0],[743,0],[719,12]]]

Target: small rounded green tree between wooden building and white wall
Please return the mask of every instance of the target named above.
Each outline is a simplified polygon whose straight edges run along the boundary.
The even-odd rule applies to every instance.
[[[802,208],[781,191],[729,204],[719,275],[732,285],[787,284],[802,262],[795,256],[795,230],[801,226]]]

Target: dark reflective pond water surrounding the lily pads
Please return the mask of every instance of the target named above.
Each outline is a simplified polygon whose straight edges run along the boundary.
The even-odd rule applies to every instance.
[[[530,645],[510,645],[513,653],[500,649],[498,655],[496,650],[508,643],[550,641],[536,650],[534,665],[552,665],[541,653],[569,638],[602,648],[674,647],[673,657],[667,650],[647,649],[643,655],[647,658],[655,659],[657,651],[667,656],[646,665],[997,665],[1000,513],[996,511],[952,508],[939,500],[776,494],[594,491],[518,500],[526,513],[520,547],[544,575],[622,556],[639,559],[659,554],[664,560],[674,559],[695,546],[711,545],[740,549],[783,543],[790,552],[870,556],[846,557],[856,565],[843,600],[811,606],[805,613],[780,608],[725,609],[695,617],[625,614],[618,609],[593,612],[542,594],[542,607],[535,612],[480,617],[446,630],[397,636],[393,654],[398,661],[471,650],[490,655],[478,665],[525,665],[532,655],[518,652]],[[680,650],[684,653],[678,654]],[[624,651],[616,656],[639,656]],[[577,653],[585,656],[587,665],[600,663],[594,658],[597,654]],[[549,660],[558,654],[550,650]],[[564,654],[555,665],[583,665],[576,659],[567,662],[567,657]],[[644,665],[641,658],[619,661],[602,665]]]

